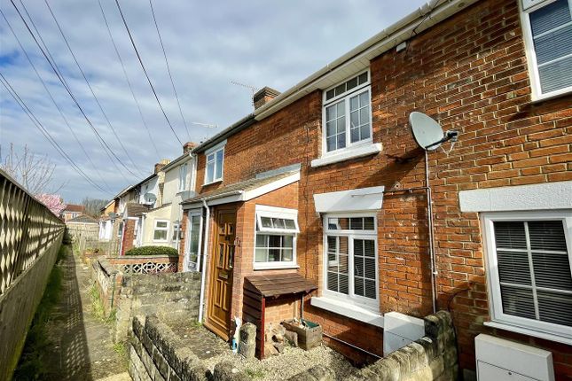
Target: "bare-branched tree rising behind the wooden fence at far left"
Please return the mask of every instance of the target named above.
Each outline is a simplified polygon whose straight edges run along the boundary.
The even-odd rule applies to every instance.
[[[0,168],[33,195],[57,193],[65,185],[61,184],[57,190],[48,191],[56,165],[47,155],[37,155],[27,145],[24,145],[21,152],[16,152],[14,144],[11,143],[5,156],[0,146]]]

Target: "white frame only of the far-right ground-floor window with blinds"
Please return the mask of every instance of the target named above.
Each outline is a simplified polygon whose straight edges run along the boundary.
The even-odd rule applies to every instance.
[[[502,295],[500,292],[500,277],[498,275],[497,245],[494,235],[494,222],[512,221],[561,221],[564,227],[564,237],[568,250],[568,260],[572,273],[572,212],[555,211],[529,211],[529,212],[490,212],[481,215],[482,235],[485,251],[485,270],[487,273],[489,289],[490,323],[502,325],[505,330],[522,332],[531,336],[540,336],[551,339],[553,337],[565,338],[572,343],[572,327],[566,325],[542,322],[521,316],[508,315],[503,312]],[[492,325],[492,324],[491,324]],[[543,336],[543,334],[545,336]]]

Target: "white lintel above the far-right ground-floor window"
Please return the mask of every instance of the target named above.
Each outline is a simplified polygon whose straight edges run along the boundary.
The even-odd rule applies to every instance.
[[[459,191],[461,212],[512,212],[572,208],[572,182]]]

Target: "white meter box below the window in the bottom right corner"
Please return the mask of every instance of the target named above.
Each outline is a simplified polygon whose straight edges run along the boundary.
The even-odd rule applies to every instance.
[[[474,338],[480,381],[553,381],[552,353],[504,338]]]

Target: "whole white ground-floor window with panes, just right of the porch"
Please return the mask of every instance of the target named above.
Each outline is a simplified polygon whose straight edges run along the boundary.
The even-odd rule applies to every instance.
[[[325,214],[324,297],[379,312],[377,246],[375,214]]]

